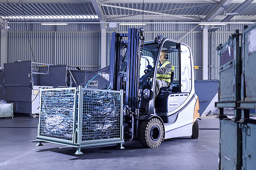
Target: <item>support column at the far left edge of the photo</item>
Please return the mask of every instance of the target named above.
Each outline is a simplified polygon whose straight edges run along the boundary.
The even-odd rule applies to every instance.
[[[7,63],[7,30],[1,29],[1,68],[4,68],[4,63]]]

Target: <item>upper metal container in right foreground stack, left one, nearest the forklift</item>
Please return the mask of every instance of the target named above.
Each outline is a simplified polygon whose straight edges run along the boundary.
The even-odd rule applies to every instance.
[[[227,42],[218,46],[219,54],[219,101],[240,100],[241,56],[239,30],[229,36]]]

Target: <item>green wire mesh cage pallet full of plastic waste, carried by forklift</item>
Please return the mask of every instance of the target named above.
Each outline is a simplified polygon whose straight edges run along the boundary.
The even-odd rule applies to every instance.
[[[123,92],[102,89],[41,89],[37,140],[76,147],[120,144]]]

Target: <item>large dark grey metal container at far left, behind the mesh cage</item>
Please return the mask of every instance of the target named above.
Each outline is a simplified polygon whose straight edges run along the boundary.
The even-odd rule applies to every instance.
[[[38,77],[50,75],[47,73],[50,65],[47,64],[46,72],[35,72],[33,68],[38,67],[39,64],[43,63],[32,61],[4,63],[5,70],[0,72],[0,98],[13,103],[16,113],[38,113],[40,88]]]

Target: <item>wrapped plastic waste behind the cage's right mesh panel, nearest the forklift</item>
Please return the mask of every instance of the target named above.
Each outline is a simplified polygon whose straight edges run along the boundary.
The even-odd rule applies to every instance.
[[[118,93],[84,91],[82,140],[118,138],[120,103]]]

